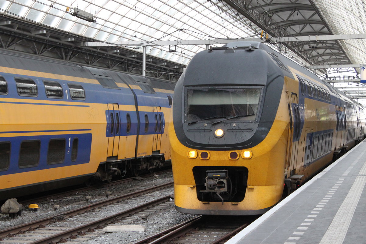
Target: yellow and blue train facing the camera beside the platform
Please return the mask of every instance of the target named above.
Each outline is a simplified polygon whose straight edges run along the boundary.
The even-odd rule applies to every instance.
[[[259,42],[193,57],[174,90],[176,209],[262,214],[365,138],[365,108]]]

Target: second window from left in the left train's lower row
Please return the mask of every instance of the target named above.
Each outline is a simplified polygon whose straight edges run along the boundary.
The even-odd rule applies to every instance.
[[[20,144],[19,168],[38,165],[40,161],[41,142],[39,140],[25,140]]]

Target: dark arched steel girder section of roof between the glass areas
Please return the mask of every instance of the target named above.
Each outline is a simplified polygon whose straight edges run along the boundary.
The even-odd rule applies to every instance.
[[[284,3],[281,0],[224,0],[224,2],[272,37],[333,34],[313,0],[308,0],[308,4],[307,1]],[[282,44],[309,64],[351,63],[339,41],[299,41]],[[322,50],[330,50],[330,53],[326,54],[328,59],[321,59],[322,53],[309,48],[319,44],[326,46]]]

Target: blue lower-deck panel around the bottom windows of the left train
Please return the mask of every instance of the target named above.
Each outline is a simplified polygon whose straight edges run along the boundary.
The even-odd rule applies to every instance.
[[[74,138],[78,138],[78,154],[75,162],[71,161],[72,143]],[[57,164],[47,164],[48,144],[51,139],[65,139],[64,161]],[[92,134],[68,134],[68,135],[36,135],[36,136],[14,136],[0,137],[1,142],[10,142],[10,165],[5,171],[0,171],[0,175],[30,172],[42,169],[60,168],[70,165],[86,164],[90,161]],[[24,140],[38,140],[41,142],[40,157],[38,164],[29,168],[19,168],[20,144]]]

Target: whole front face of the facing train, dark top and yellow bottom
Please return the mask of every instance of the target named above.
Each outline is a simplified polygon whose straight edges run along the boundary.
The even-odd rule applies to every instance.
[[[222,56],[224,52],[225,55]],[[200,66],[200,56],[196,55],[197,61],[191,60],[186,74],[178,81],[169,125],[176,209],[182,213],[194,214],[265,213],[280,200],[284,188],[284,145],[287,144],[290,119],[282,71],[273,58],[262,50],[213,50],[203,52],[202,57],[205,55],[213,56],[210,59],[212,67],[228,65],[220,67],[228,72],[233,69],[231,64],[234,61],[243,62],[245,64],[242,67],[246,68],[240,72],[245,75],[238,74],[235,70],[229,72],[235,74],[234,77],[227,79],[220,69],[206,71]],[[240,55],[249,57],[243,58]],[[240,59],[235,60],[236,57]],[[248,60],[255,60],[258,64],[247,63]],[[263,67],[263,63],[267,65],[268,71],[257,68]],[[242,84],[243,76],[252,83]],[[214,82],[212,80],[207,80],[205,85],[197,85],[196,77],[201,77],[202,83],[205,82],[205,77],[214,77],[215,80],[228,83],[237,79],[241,83],[238,82],[235,86],[223,83],[212,87],[209,85]],[[240,89],[244,91],[243,94],[250,94],[255,89],[261,90],[262,96],[256,100],[259,105],[257,102],[249,102],[253,101],[253,96],[238,95]],[[194,92],[201,96],[192,98],[191,102],[184,101],[187,94]],[[232,98],[225,94],[231,94]],[[247,100],[244,101],[243,97]],[[216,104],[217,101],[223,104]],[[187,104],[192,107],[197,105],[199,109],[197,112],[188,112],[185,107]],[[257,119],[252,112],[248,112],[253,104],[258,106],[255,112],[255,115],[258,112]],[[215,109],[215,105],[234,106],[236,115],[242,117],[237,119],[225,114],[210,115],[208,111],[221,111]],[[230,111],[225,106],[222,111]],[[247,109],[240,110],[241,106]],[[194,116],[189,118],[190,114]],[[197,119],[194,119],[195,116]]]

